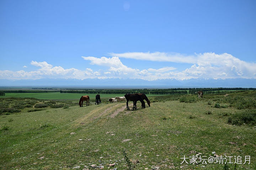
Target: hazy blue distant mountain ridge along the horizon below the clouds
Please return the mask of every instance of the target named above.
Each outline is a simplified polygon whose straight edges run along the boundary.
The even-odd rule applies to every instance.
[[[140,87],[253,87],[256,79],[160,79],[154,81],[142,79],[38,79],[7,80],[1,79],[0,86],[140,86]]]

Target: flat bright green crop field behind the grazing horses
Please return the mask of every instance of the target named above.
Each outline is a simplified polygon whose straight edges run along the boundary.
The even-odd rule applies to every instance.
[[[97,94],[74,94],[74,93],[60,93],[60,92],[47,92],[47,93],[5,93],[4,97],[31,97],[42,100],[69,100],[79,101],[81,96],[88,95],[90,100],[95,100]],[[100,94],[102,100],[107,100],[111,97],[121,97],[124,94]],[[162,96],[162,95],[147,95],[147,96]],[[3,97],[3,96],[0,96]]]

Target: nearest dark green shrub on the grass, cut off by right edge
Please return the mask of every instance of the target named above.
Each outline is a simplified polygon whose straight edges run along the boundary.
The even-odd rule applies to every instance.
[[[251,124],[256,125],[256,110],[242,111],[228,117],[228,123],[233,125]]]

